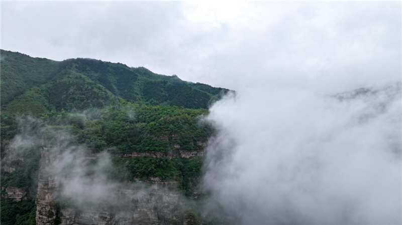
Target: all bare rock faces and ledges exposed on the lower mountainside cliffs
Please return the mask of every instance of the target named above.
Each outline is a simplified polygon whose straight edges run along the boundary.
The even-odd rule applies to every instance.
[[[24,162],[26,158],[10,154],[9,142],[2,143],[2,152],[7,155],[2,168],[6,172],[13,172],[19,168],[18,161]],[[202,144],[202,143],[197,143]],[[79,207],[58,208],[56,199],[61,191],[60,182],[57,177],[49,173],[60,153],[55,151],[55,146],[45,146],[40,149],[40,167],[38,174],[38,191],[36,197],[36,224],[169,224],[176,220],[178,211],[184,205],[182,194],[177,192],[176,181],[162,181],[158,177],[150,177],[148,181],[135,179],[135,182],[128,182],[119,188],[116,205],[97,204]],[[113,154],[113,153],[112,153]],[[182,150],[175,149],[166,152],[132,152],[127,154],[113,154],[119,157],[167,157],[190,158],[203,156],[204,149]],[[99,156],[90,153],[84,157],[95,159]],[[6,158],[5,158],[6,159]],[[13,162],[13,163],[11,163]],[[3,196],[14,201],[27,199],[29,195],[26,188],[7,186],[2,187]]]

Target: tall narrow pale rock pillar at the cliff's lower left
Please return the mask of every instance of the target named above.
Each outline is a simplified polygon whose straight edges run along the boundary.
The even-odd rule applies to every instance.
[[[51,148],[43,147],[41,150],[41,163],[38,178],[38,193],[36,200],[36,224],[55,224],[57,207],[56,197],[58,193],[58,181],[56,177],[52,177],[46,171],[51,166],[56,155],[50,150]]]

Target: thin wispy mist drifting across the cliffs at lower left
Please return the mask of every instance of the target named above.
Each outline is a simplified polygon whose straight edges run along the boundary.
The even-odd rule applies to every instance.
[[[138,210],[143,208],[155,208],[155,212],[149,212],[155,218],[168,216],[174,206],[184,202],[174,188],[175,182],[157,184],[141,179],[129,180],[128,174],[119,171],[113,162],[114,156],[109,151],[113,149],[94,152],[88,145],[79,144],[72,132],[63,126],[98,114],[96,110],[76,112],[56,121],[32,116],[18,118],[17,135],[2,163],[20,158],[36,160],[29,158],[30,155],[40,159],[39,171],[31,175],[35,182],[30,191],[36,193],[37,189],[43,188],[43,184],[38,188],[38,172],[39,182],[45,180],[46,187],[47,180],[52,180],[55,186],[47,193],[46,200],[52,200],[65,209],[65,216],[71,216],[74,210],[83,213],[100,211],[112,213],[114,219],[125,221],[139,216]],[[130,115],[134,116],[134,112]],[[37,157],[38,154],[41,157]]]

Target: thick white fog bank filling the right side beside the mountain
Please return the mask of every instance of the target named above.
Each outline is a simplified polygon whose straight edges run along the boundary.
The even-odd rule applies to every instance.
[[[233,223],[400,224],[400,82],[248,89],[211,107],[205,187]],[[211,206],[209,205],[209,206]]]

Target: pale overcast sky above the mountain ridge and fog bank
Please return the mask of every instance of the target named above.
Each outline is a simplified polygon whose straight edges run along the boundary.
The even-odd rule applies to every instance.
[[[400,80],[400,2],[4,2],[1,48],[240,91]]]

